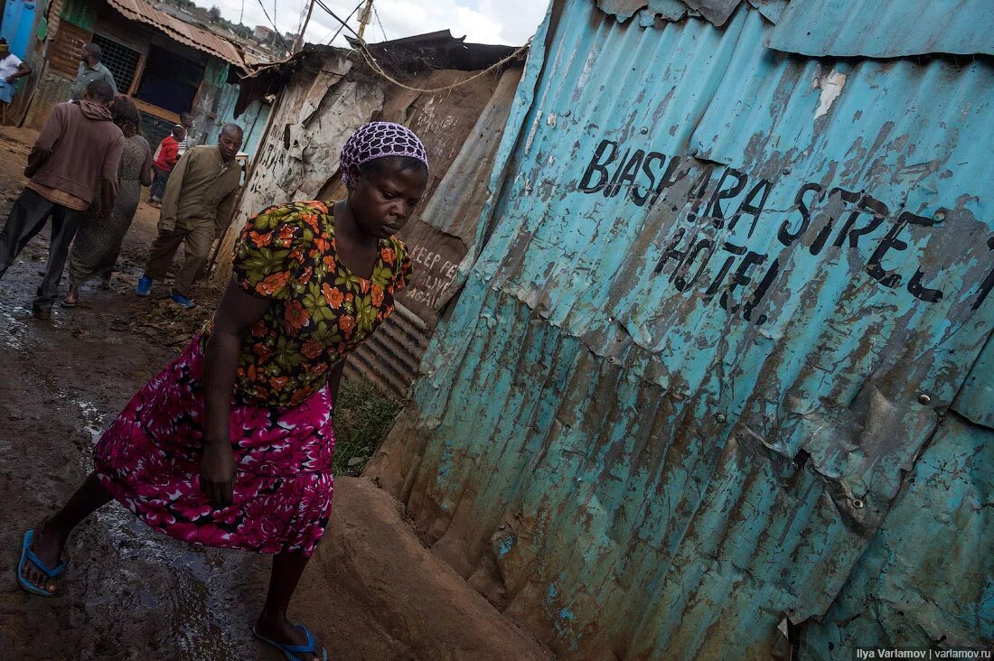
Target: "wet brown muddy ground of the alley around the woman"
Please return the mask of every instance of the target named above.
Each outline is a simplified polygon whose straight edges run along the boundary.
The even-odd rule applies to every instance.
[[[20,194],[30,131],[0,129],[0,224]],[[116,503],[68,547],[61,595],[15,582],[20,536],[63,502],[100,429],[210,313],[181,311],[159,286],[131,290],[156,211],[144,203],[110,291],[51,321],[31,315],[48,232],[0,280],[0,656],[4,659],[280,659],[252,639],[268,558],[196,549],[154,533]],[[64,281],[65,288],[65,281]],[[533,659],[547,653],[425,550],[402,508],[373,483],[340,478],[332,524],[291,607],[335,659]]]

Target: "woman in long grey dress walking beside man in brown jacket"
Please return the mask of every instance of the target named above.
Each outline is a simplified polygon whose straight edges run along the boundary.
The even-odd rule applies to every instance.
[[[110,273],[121,249],[124,235],[138,211],[141,187],[152,183],[152,150],[141,134],[141,114],[134,101],[118,95],[110,105],[113,122],[124,133],[124,149],[117,168],[117,200],[109,218],[99,218],[94,201],[76,233],[69,255],[69,293],[63,307],[75,307],[80,285],[100,276],[104,289],[110,288]]]

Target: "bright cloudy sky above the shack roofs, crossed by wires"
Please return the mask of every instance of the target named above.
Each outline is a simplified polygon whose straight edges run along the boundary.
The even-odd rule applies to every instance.
[[[360,0],[322,0],[339,17],[345,19]],[[280,33],[296,32],[301,15],[309,0],[195,0],[196,4],[210,8],[217,6],[222,16],[250,27],[271,26],[262,7],[273,18]],[[479,44],[504,44],[521,46],[535,34],[545,18],[547,0],[374,0],[376,13],[366,28],[369,43],[400,39],[435,32],[448,28],[454,37]],[[275,14],[275,16],[273,16]],[[377,20],[379,15],[379,20]],[[353,30],[359,28],[359,12],[348,21]],[[382,28],[381,28],[382,24]],[[314,7],[311,22],[305,34],[310,43],[326,44],[340,27],[334,18]],[[347,32],[347,30],[343,30]],[[348,46],[339,35],[336,46]]]

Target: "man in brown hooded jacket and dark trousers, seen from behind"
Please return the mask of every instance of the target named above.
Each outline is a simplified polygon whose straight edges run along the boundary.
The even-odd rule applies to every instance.
[[[28,155],[31,179],[0,233],[0,277],[28,242],[52,219],[49,262],[33,305],[36,317],[52,315],[69,246],[80,220],[100,191],[101,218],[117,197],[117,165],[124,134],[111,121],[113,89],[105,81],[86,85],[83,100],[58,103]]]

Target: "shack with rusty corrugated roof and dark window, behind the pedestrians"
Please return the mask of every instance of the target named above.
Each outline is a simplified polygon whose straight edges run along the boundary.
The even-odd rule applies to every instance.
[[[20,6],[16,12],[14,5]],[[153,145],[182,112],[194,115],[197,143],[234,120],[238,79],[256,62],[227,39],[145,0],[8,0],[7,11],[18,18],[18,45],[35,72],[11,111],[28,126],[40,127],[55,103],[69,99],[80,50],[89,42],[100,47],[118,90],[138,105]],[[243,149],[249,153],[268,115],[265,101],[258,99],[245,113]]]

